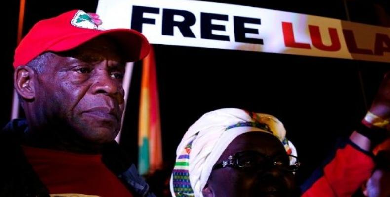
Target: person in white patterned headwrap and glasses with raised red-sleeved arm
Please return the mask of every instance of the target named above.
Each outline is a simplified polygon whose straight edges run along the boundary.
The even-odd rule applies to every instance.
[[[370,151],[388,135],[390,75],[349,139],[302,186],[297,152],[283,124],[267,114],[226,108],[204,114],[179,144],[174,197],[349,197],[371,175]],[[304,118],[304,117],[303,117]]]

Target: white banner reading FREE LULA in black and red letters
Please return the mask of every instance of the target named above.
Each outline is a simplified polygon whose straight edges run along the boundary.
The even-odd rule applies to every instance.
[[[99,0],[103,28],[152,44],[390,62],[390,28],[197,0]]]

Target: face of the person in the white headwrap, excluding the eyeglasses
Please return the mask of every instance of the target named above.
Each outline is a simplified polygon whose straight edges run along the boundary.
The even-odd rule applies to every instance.
[[[236,137],[222,153],[216,164],[227,160],[229,155],[242,151],[256,151],[270,157],[288,156],[281,142],[263,132],[248,132]],[[294,196],[295,185],[292,172],[274,166],[260,166],[257,169],[225,167],[214,169],[208,179],[208,186],[214,197],[290,197]]]

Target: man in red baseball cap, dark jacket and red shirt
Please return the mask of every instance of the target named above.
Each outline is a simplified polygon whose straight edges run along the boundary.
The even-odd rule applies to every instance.
[[[14,86],[26,120],[0,137],[1,197],[154,196],[114,141],[125,62],[150,46],[139,32],[100,24],[69,11],[39,21],[17,47]]]

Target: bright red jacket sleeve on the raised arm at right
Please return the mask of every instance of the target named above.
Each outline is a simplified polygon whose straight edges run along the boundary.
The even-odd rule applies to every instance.
[[[351,197],[371,176],[372,154],[348,140],[301,186],[302,197]]]

